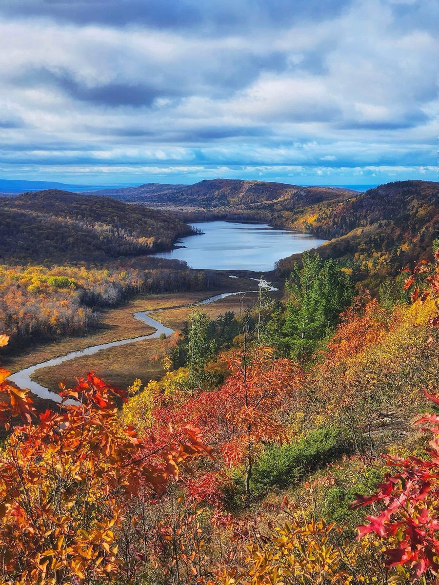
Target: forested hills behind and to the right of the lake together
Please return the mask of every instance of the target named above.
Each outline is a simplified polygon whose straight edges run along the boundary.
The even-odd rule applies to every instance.
[[[376,288],[386,276],[431,253],[439,228],[439,186],[398,181],[364,193],[263,181],[215,179],[194,185],[141,185],[111,197],[179,209],[183,221],[242,219],[285,226],[331,240],[324,257],[342,259],[356,280]],[[286,277],[299,257],[281,260]]]

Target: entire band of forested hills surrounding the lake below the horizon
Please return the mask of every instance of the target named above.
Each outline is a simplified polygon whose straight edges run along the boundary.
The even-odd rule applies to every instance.
[[[439,230],[439,185],[398,181],[358,192],[229,179],[149,183],[0,198],[0,213],[5,259],[49,259],[60,250],[68,260],[145,254],[171,247],[190,232],[188,222],[262,221],[328,239],[321,256],[340,260],[356,280],[375,288],[386,276],[430,256]],[[280,260],[278,276],[287,276],[297,259]]]

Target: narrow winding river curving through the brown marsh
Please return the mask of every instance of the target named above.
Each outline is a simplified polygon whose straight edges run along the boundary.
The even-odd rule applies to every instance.
[[[251,278],[249,280],[258,280],[257,278]],[[260,283],[264,288],[267,290],[277,290],[275,287],[270,286],[268,283],[262,281]],[[258,291],[247,291],[247,292],[258,292]],[[222,294],[215,295],[215,297],[210,297],[205,299],[204,301],[200,301],[200,305],[208,305],[211,302],[219,301],[222,298],[231,297],[232,295],[239,295],[245,294],[245,291],[236,291],[236,292],[223,292]],[[180,307],[191,307],[191,304],[188,305],[180,305]],[[76,352],[68,352],[64,356],[54,357],[53,359],[47,360],[46,362],[40,362],[35,364],[35,366],[30,366],[25,368],[24,370],[19,370],[12,376],[9,376],[8,380],[16,384],[19,388],[28,388],[34,394],[36,394],[39,398],[44,398],[48,400],[53,400],[54,402],[60,402],[61,397],[49,390],[49,388],[45,388],[41,384],[37,383],[35,380],[32,380],[32,374],[35,374],[37,370],[41,370],[45,367],[50,366],[57,366],[63,362],[67,362],[68,360],[73,360],[75,357],[81,356],[92,356],[95,353],[101,352],[104,349],[109,349],[109,347],[116,347],[119,345],[127,345],[128,343],[135,343],[138,341],[143,341],[144,339],[154,339],[160,337],[160,335],[172,335],[174,330],[170,327],[166,327],[160,321],[156,321],[149,316],[149,313],[152,312],[160,312],[166,311],[167,309],[172,309],[175,307],[164,307],[162,309],[151,309],[150,311],[139,311],[133,313],[133,317],[135,319],[139,319],[139,321],[143,321],[146,325],[150,325],[151,327],[155,328],[156,331],[153,333],[149,333],[149,335],[140,335],[138,337],[130,338],[130,339],[121,339],[119,341],[112,341],[109,343],[101,343],[100,345],[92,345],[90,347],[85,347],[85,349],[78,350]]]

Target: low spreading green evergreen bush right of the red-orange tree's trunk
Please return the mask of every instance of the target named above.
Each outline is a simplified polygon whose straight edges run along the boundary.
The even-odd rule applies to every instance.
[[[267,446],[253,468],[253,489],[260,492],[296,483],[307,472],[346,450],[343,439],[345,436],[338,428],[320,428],[296,443]]]

